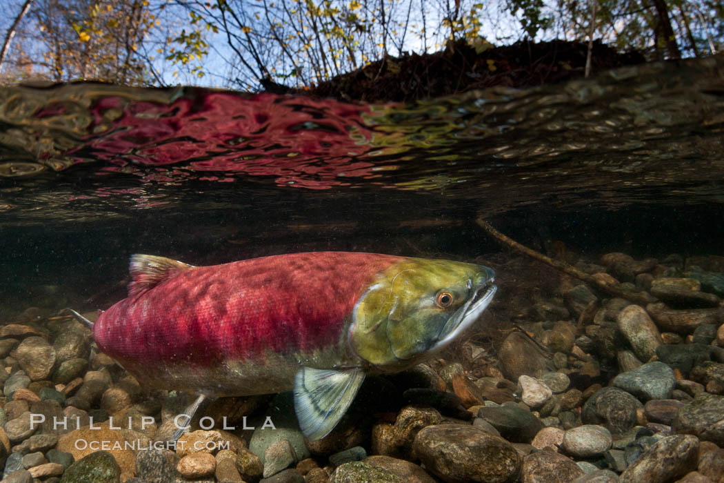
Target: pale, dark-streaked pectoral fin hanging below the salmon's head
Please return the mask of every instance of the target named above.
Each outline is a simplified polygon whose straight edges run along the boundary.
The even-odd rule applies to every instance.
[[[300,369],[294,378],[294,411],[308,440],[321,440],[337,426],[363,380],[361,369]]]

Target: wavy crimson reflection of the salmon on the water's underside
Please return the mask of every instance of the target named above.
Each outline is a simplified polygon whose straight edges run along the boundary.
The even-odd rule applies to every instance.
[[[374,164],[359,159],[372,137],[365,113],[367,106],[268,93],[194,91],[171,104],[105,97],[90,109],[90,130],[103,133],[89,135],[85,151],[111,164],[103,171],[122,168],[143,180],[273,176],[278,185],[324,189],[349,185],[345,177],[376,177]],[[198,175],[143,168],[169,165]]]

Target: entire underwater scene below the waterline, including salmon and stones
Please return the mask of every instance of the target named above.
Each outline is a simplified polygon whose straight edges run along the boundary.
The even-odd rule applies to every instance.
[[[2,482],[724,482],[723,220],[720,55],[0,88]]]

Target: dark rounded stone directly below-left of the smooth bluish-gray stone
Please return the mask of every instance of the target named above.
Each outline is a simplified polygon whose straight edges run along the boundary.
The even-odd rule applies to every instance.
[[[636,424],[636,410],[643,407],[628,392],[604,387],[586,400],[581,419],[586,424],[601,424],[613,435],[620,435]]]

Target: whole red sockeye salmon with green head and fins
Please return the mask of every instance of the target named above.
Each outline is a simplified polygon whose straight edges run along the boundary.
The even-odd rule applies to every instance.
[[[497,290],[486,266],[374,253],[214,266],[134,255],[130,273],[128,297],[93,325],[98,348],[140,384],[199,401],[293,390],[310,440],[334,428],[366,374],[429,358]]]

